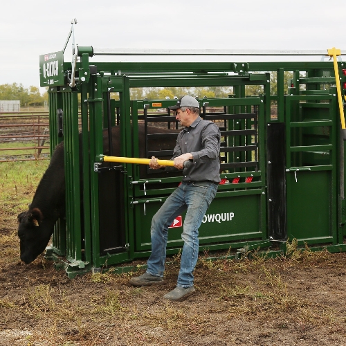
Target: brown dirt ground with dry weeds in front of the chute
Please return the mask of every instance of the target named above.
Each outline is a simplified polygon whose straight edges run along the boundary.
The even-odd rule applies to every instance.
[[[9,203],[15,203],[10,201]],[[17,213],[0,206],[0,345],[346,345],[346,253],[210,261],[196,292],[174,289],[179,256],[161,286],[136,288],[108,271],[70,280],[41,255],[19,260]],[[145,262],[143,262],[145,263]]]

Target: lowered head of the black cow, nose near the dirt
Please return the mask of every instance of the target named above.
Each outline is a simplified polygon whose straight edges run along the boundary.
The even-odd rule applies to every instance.
[[[18,215],[18,237],[20,239],[21,260],[26,264],[33,262],[44,252],[51,238],[52,230],[47,229],[39,208],[29,209]]]

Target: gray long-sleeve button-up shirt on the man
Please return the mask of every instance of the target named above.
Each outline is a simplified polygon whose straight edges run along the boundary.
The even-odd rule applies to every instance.
[[[199,116],[176,138],[173,158],[190,153],[193,164],[184,170],[183,181],[220,182],[220,130],[214,122]]]

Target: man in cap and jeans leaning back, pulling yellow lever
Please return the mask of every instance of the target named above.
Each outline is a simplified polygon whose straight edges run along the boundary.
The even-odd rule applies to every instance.
[[[175,106],[176,120],[185,128],[179,133],[174,148],[174,167],[183,168],[185,161],[192,164],[185,168],[183,181],[163,203],[152,219],[152,254],[147,261],[147,271],[132,277],[133,286],[163,284],[168,228],[174,219],[186,210],[181,238],[184,241],[181,267],[176,288],[163,296],[169,300],[181,300],[194,292],[193,271],[199,252],[198,230],[206,210],[217,192],[220,182],[220,131],[213,122],[199,116],[199,102],[184,96]],[[163,168],[152,157],[149,167]]]

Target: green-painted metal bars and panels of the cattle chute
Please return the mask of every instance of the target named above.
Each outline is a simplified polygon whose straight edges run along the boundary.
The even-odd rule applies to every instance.
[[[148,229],[151,217],[174,190],[172,187],[158,188],[149,189],[144,193],[141,187],[147,180],[140,180],[138,167],[123,164],[125,242],[128,246],[125,246],[124,251],[120,253],[101,255],[99,177],[95,167],[102,167],[99,158],[103,154],[102,129],[107,123],[105,119],[107,93],[112,91],[119,95],[118,101],[111,101],[111,110],[113,124],[119,120],[118,118],[116,120],[115,109],[120,111],[121,156],[138,156],[137,124],[140,110],[145,107],[167,108],[175,104],[174,100],[131,100],[130,89],[140,87],[233,86],[233,95],[229,98],[199,100],[201,108],[204,103],[208,103],[208,107],[226,107],[227,113],[230,114],[251,113],[253,107],[257,109],[258,169],[242,167],[222,172],[222,179],[232,181],[239,177],[241,182],[219,185],[217,197],[207,212],[207,214],[221,215],[219,210],[223,210],[221,213],[226,215],[227,208],[234,208],[239,219],[232,226],[218,223],[217,227],[213,226],[213,230],[207,222],[202,224],[201,251],[206,248],[212,251],[273,244],[275,239],[269,241],[267,224],[266,126],[275,121],[286,124],[287,235],[298,238],[300,244],[304,242],[311,245],[330,244],[334,248],[338,246],[343,248],[346,206],[345,198],[340,197],[339,160],[343,143],[340,143],[338,136],[340,117],[332,86],[335,83],[332,62],[98,62],[93,63],[96,66],[93,67],[89,62],[92,48],[79,47],[78,52],[80,62],[76,65],[78,71],[76,86],[71,89],[68,85],[69,80],[66,80],[64,85],[54,85],[49,90],[52,150],[62,140],[56,135],[56,112],[58,108],[64,111],[66,176],[66,226],[63,220],[58,221],[52,251],[56,258],[64,257],[64,267],[69,277],[92,268],[147,257],[150,253]],[[338,66],[342,69],[343,63],[338,62]],[[64,62],[63,69],[66,78],[71,73],[71,64]],[[277,95],[270,95],[269,72],[271,71],[277,73]],[[284,95],[284,71],[293,72],[293,87],[289,88],[289,95]],[[301,76],[302,73],[305,74],[304,77]],[[345,76],[342,78],[344,81]],[[304,91],[300,90],[302,84],[306,85]],[[321,84],[330,87],[321,90]],[[264,93],[255,97],[246,97],[246,85],[261,85]],[[80,116],[78,97],[80,97]],[[271,119],[272,100],[277,101],[275,120]],[[158,103],[161,106],[153,105]],[[316,111],[316,118],[300,119],[304,111],[309,111],[307,107]],[[79,119],[81,127],[78,125]],[[239,120],[238,124],[228,122],[228,130],[243,128],[249,130],[253,126],[249,124],[244,119]],[[327,129],[328,135],[320,136],[322,139],[318,138],[320,131],[325,131],[324,129]],[[251,136],[246,136],[239,136],[234,145],[244,146],[246,143],[251,143]],[[304,140],[313,141],[313,138],[317,138],[317,144],[304,143]],[[79,154],[80,149],[81,154]],[[328,153],[327,163],[321,152]],[[313,164],[303,165],[303,161],[298,159],[305,154],[310,157]],[[230,153],[226,156],[228,162],[234,163],[251,160],[249,152],[244,152],[239,157]],[[82,183],[80,183],[80,169],[83,176]],[[328,229],[321,230],[316,237],[311,235],[311,231],[305,236],[304,229],[300,227],[306,228],[311,220],[306,217],[304,219],[304,215],[298,212],[303,206],[295,205],[298,203],[298,197],[292,176],[298,172],[298,179],[304,181],[300,191],[306,190],[306,194],[309,194],[313,188],[318,189],[318,201],[322,206],[314,204],[311,208],[319,210],[319,214],[327,209],[323,222],[328,224],[326,226]],[[249,174],[253,176],[253,181],[243,182]],[[344,171],[343,179],[345,180]],[[179,183],[180,180],[179,177],[169,176],[161,179],[161,183]],[[150,183],[158,181],[153,176],[147,184]],[[317,203],[313,201],[313,197],[305,201]],[[146,207],[145,213],[143,206]],[[293,220],[297,215],[300,219]],[[177,253],[182,245],[179,230],[172,229],[167,254]],[[284,250],[284,242],[280,248]]]

